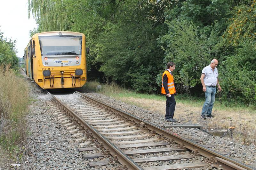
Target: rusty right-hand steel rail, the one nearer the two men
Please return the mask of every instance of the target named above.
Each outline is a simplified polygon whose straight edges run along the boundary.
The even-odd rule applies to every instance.
[[[144,119],[141,119],[139,117],[136,117],[130,113],[127,113],[123,110],[120,110],[118,108],[115,108],[113,106],[110,106],[106,103],[100,102],[97,99],[94,99],[90,96],[87,96],[83,93],[80,93],[78,91],[75,91],[77,94],[79,94],[80,96],[84,97],[84,98],[89,98],[90,100],[92,100],[94,103],[99,103],[102,107],[104,107],[105,109],[114,111],[114,112],[118,112],[121,116],[130,119],[131,121],[141,125],[141,123],[144,123],[143,126],[146,126],[149,130],[151,131],[155,131],[157,134],[159,135],[164,135],[165,138],[168,138],[170,140],[174,140],[176,143],[180,144],[180,145],[185,145],[186,148],[188,148],[191,151],[194,152],[199,152],[200,155],[208,158],[208,159],[214,159],[215,162],[217,162],[217,160],[220,159],[224,159],[226,160],[226,162],[230,162],[232,164],[232,167],[230,167],[230,169],[237,169],[237,170],[244,170],[244,169],[248,169],[248,170],[256,170],[255,168],[246,165],[240,161],[237,161],[236,159],[230,158],[226,155],[223,155],[219,152],[216,152],[210,148],[207,148],[201,144],[198,144],[188,138],[184,138],[181,137],[180,135],[173,133],[171,131],[167,131],[165,129],[163,129],[162,127],[159,127],[155,124],[152,124]],[[217,158],[216,158],[217,157]],[[220,158],[220,159],[218,159]],[[219,162],[219,161],[218,161]]]

